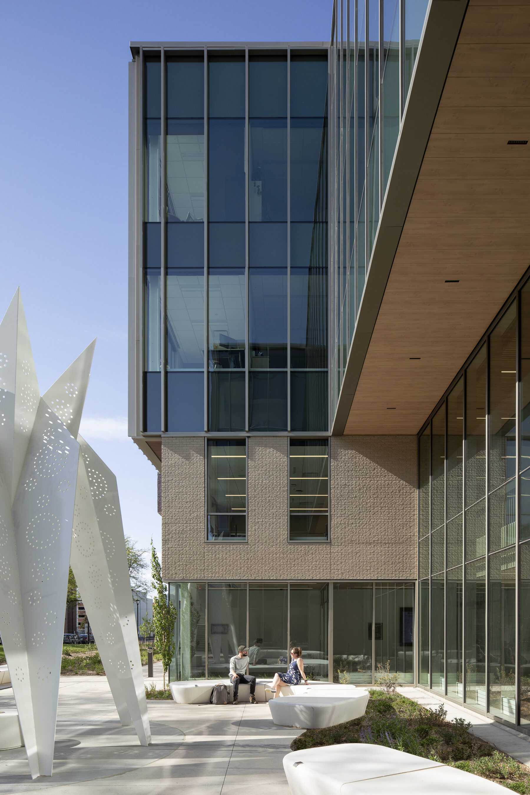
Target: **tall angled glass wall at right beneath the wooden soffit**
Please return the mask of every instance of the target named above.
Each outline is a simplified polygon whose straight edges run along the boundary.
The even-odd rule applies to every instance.
[[[520,726],[530,726],[529,317],[527,282],[418,437],[420,683]]]

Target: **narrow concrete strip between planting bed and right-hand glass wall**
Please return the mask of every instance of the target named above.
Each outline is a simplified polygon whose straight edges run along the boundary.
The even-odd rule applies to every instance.
[[[403,696],[408,696],[424,707],[436,709],[443,704],[443,708],[447,709],[447,720],[463,718],[467,723],[471,723],[471,731],[476,737],[486,740],[486,743],[490,743],[504,754],[512,756],[517,762],[530,766],[530,737],[528,735],[505,726],[504,723],[486,718],[486,715],[479,715],[473,710],[459,707],[458,704],[453,704],[452,701],[435,696],[434,693],[422,688],[397,688],[397,690]]]

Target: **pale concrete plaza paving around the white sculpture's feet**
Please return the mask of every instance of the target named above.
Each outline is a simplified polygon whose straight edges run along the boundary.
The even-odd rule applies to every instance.
[[[157,665],[157,664],[155,664]],[[145,679],[147,669],[145,668]],[[153,670],[160,679],[161,669]],[[0,710],[14,708],[13,690]],[[153,745],[122,727],[106,677],[61,677],[52,778],[29,777],[25,750],[0,751],[0,795],[288,795],[282,760],[297,729],[273,724],[267,704],[148,701]]]

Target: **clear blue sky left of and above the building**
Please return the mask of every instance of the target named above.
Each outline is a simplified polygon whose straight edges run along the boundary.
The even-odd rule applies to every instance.
[[[126,436],[130,41],[328,41],[331,0],[3,0],[0,316],[17,286],[41,393],[98,338],[81,432],[125,532],[161,549],[157,476]]]

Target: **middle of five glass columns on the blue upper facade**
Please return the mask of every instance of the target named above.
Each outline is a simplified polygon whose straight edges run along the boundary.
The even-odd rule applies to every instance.
[[[208,366],[211,431],[246,428],[245,53],[208,59]]]

